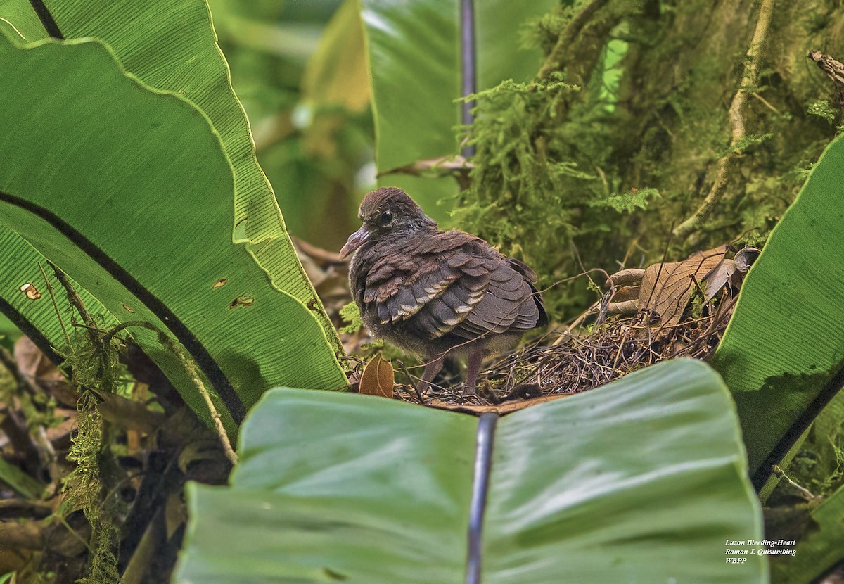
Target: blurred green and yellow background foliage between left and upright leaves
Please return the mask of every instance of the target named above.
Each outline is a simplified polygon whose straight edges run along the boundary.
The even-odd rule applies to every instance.
[[[339,249],[375,187],[356,0],[210,0],[219,46],[289,231]]]

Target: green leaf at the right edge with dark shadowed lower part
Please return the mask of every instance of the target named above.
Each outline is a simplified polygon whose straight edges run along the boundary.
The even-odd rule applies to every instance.
[[[750,270],[717,350],[757,484],[844,381],[842,185],[837,138]]]

